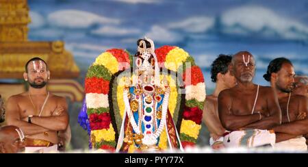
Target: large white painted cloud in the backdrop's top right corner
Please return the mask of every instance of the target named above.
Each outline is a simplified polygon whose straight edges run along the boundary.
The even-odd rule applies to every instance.
[[[307,25],[261,6],[233,8],[221,15],[221,21],[227,34],[259,33],[264,37],[278,35],[286,40],[308,39]]]

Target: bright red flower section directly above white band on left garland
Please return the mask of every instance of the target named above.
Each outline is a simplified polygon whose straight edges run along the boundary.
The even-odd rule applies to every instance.
[[[109,92],[109,81],[101,78],[91,77],[86,78],[85,91],[86,93],[103,93],[108,94]]]

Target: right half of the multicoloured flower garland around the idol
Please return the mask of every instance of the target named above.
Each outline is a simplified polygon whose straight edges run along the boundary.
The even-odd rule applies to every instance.
[[[194,59],[179,47],[160,47],[155,51],[157,60],[164,61],[164,66],[181,74],[185,85],[185,104],[181,120],[180,139],[182,146],[196,143],[201,129],[202,110],[205,102],[205,81],[201,68]]]

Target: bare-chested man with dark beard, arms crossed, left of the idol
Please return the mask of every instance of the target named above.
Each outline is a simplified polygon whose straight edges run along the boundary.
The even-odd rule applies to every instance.
[[[64,131],[68,126],[66,99],[47,91],[50,72],[44,60],[38,57],[29,60],[23,77],[29,91],[8,99],[7,123],[25,133],[26,153],[57,151],[57,131]]]

